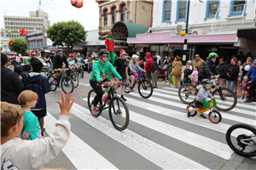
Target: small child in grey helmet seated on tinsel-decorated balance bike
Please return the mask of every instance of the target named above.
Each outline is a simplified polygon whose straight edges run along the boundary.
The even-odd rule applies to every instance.
[[[214,98],[212,97],[212,94],[210,94],[209,89],[211,88],[211,83],[212,81],[210,81],[209,79],[203,79],[201,81],[203,88],[200,89],[200,91],[198,92],[198,94],[195,97],[195,108],[192,110],[188,110],[188,116],[190,116],[191,112],[194,111],[199,111],[200,106],[202,105],[202,100],[203,99],[207,99],[207,98]],[[203,113],[200,114],[201,118],[207,119],[206,116],[204,116]]]

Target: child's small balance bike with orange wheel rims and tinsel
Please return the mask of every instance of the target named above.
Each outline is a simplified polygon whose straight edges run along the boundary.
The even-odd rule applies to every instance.
[[[221,120],[222,120],[221,114],[218,111],[213,110],[214,100],[211,99],[211,101],[208,101],[208,102],[209,102],[209,107],[207,109],[205,109],[205,106],[201,105],[198,112],[202,114],[202,113],[210,110],[209,114],[208,114],[208,119],[210,120],[210,122],[215,123],[215,124],[221,122]],[[191,107],[195,108],[195,105],[188,105],[186,108],[186,111],[191,110],[192,109]],[[190,116],[195,116],[196,114],[197,114],[197,111],[190,112]]]

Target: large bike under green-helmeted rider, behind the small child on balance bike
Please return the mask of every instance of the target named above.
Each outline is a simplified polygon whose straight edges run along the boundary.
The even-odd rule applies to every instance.
[[[216,108],[219,111],[230,111],[235,108],[237,103],[236,94],[229,88],[222,88],[218,84],[218,76],[214,76],[213,81],[216,83],[216,89],[212,92],[212,96],[218,101],[219,105]],[[195,102],[196,94],[198,93],[201,82],[195,82],[196,87],[191,83],[185,83],[178,89],[178,97],[184,104],[193,104]],[[189,91],[182,92],[183,88],[189,86]],[[191,91],[192,88],[192,91]],[[213,87],[212,87],[213,88]],[[230,93],[231,96],[227,97],[225,94]]]

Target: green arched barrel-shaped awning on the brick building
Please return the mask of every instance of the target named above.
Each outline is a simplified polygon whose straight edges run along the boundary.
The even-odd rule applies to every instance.
[[[148,28],[139,24],[119,21],[113,25],[111,31],[114,39],[126,39],[136,37],[137,34],[143,34],[148,31]]]

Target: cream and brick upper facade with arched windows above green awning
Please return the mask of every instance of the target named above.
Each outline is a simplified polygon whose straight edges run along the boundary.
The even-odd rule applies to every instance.
[[[153,0],[152,0],[153,1]],[[103,39],[118,21],[152,25],[153,2],[151,0],[96,0],[99,5],[99,35]]]

